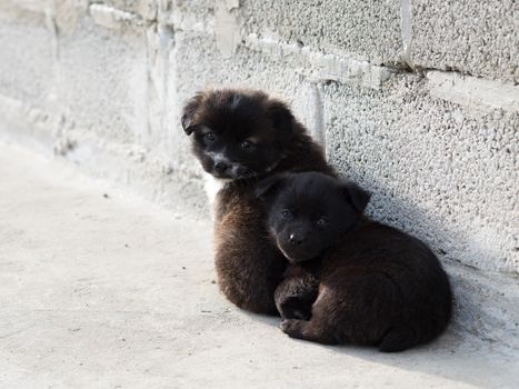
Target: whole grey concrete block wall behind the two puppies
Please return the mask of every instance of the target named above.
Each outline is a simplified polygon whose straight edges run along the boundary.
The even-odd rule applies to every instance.
[[[370,213],[426,240],[455,329],[519,348],[513,0],[2,0],[0,137],[208,212],[179,127],[207,87],[288,100]]]

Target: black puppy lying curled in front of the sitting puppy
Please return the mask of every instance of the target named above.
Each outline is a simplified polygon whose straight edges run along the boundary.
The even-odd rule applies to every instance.
[[[290,262],[276,305],[290,337],[401,351],[443,331],[448,277],[418,239],[362,217],[369,194],[320,173],[257,187],[272,241]]]

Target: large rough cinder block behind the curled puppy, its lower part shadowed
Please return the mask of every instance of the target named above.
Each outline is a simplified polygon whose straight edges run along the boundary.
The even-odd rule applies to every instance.
[[[371,213],[482,271],[519,272],[519,113],[475,110],[396,77],[323,87],[330,161],[373,192]]]

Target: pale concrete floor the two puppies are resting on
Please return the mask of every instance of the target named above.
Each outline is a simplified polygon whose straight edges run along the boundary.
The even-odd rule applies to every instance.
[[[1,388],[519,388],[455,330],[399,355],[287,338],[218,292],[209,221],[0,144]]]

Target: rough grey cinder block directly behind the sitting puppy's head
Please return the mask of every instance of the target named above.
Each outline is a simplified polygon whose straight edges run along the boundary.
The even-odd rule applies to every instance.
[[[282,56],[271,57],[246,46],[239,46],[236,54],[228,58],[221,54],[212,36],[177,32],[174,57],[170,62],[170,73],[176,74],[172,87],[176,107],[180,108],[187,98],[204,88],[262,89],[291,103],[297,117],[321,141],[318,84],[299,73],[293,64]]]

